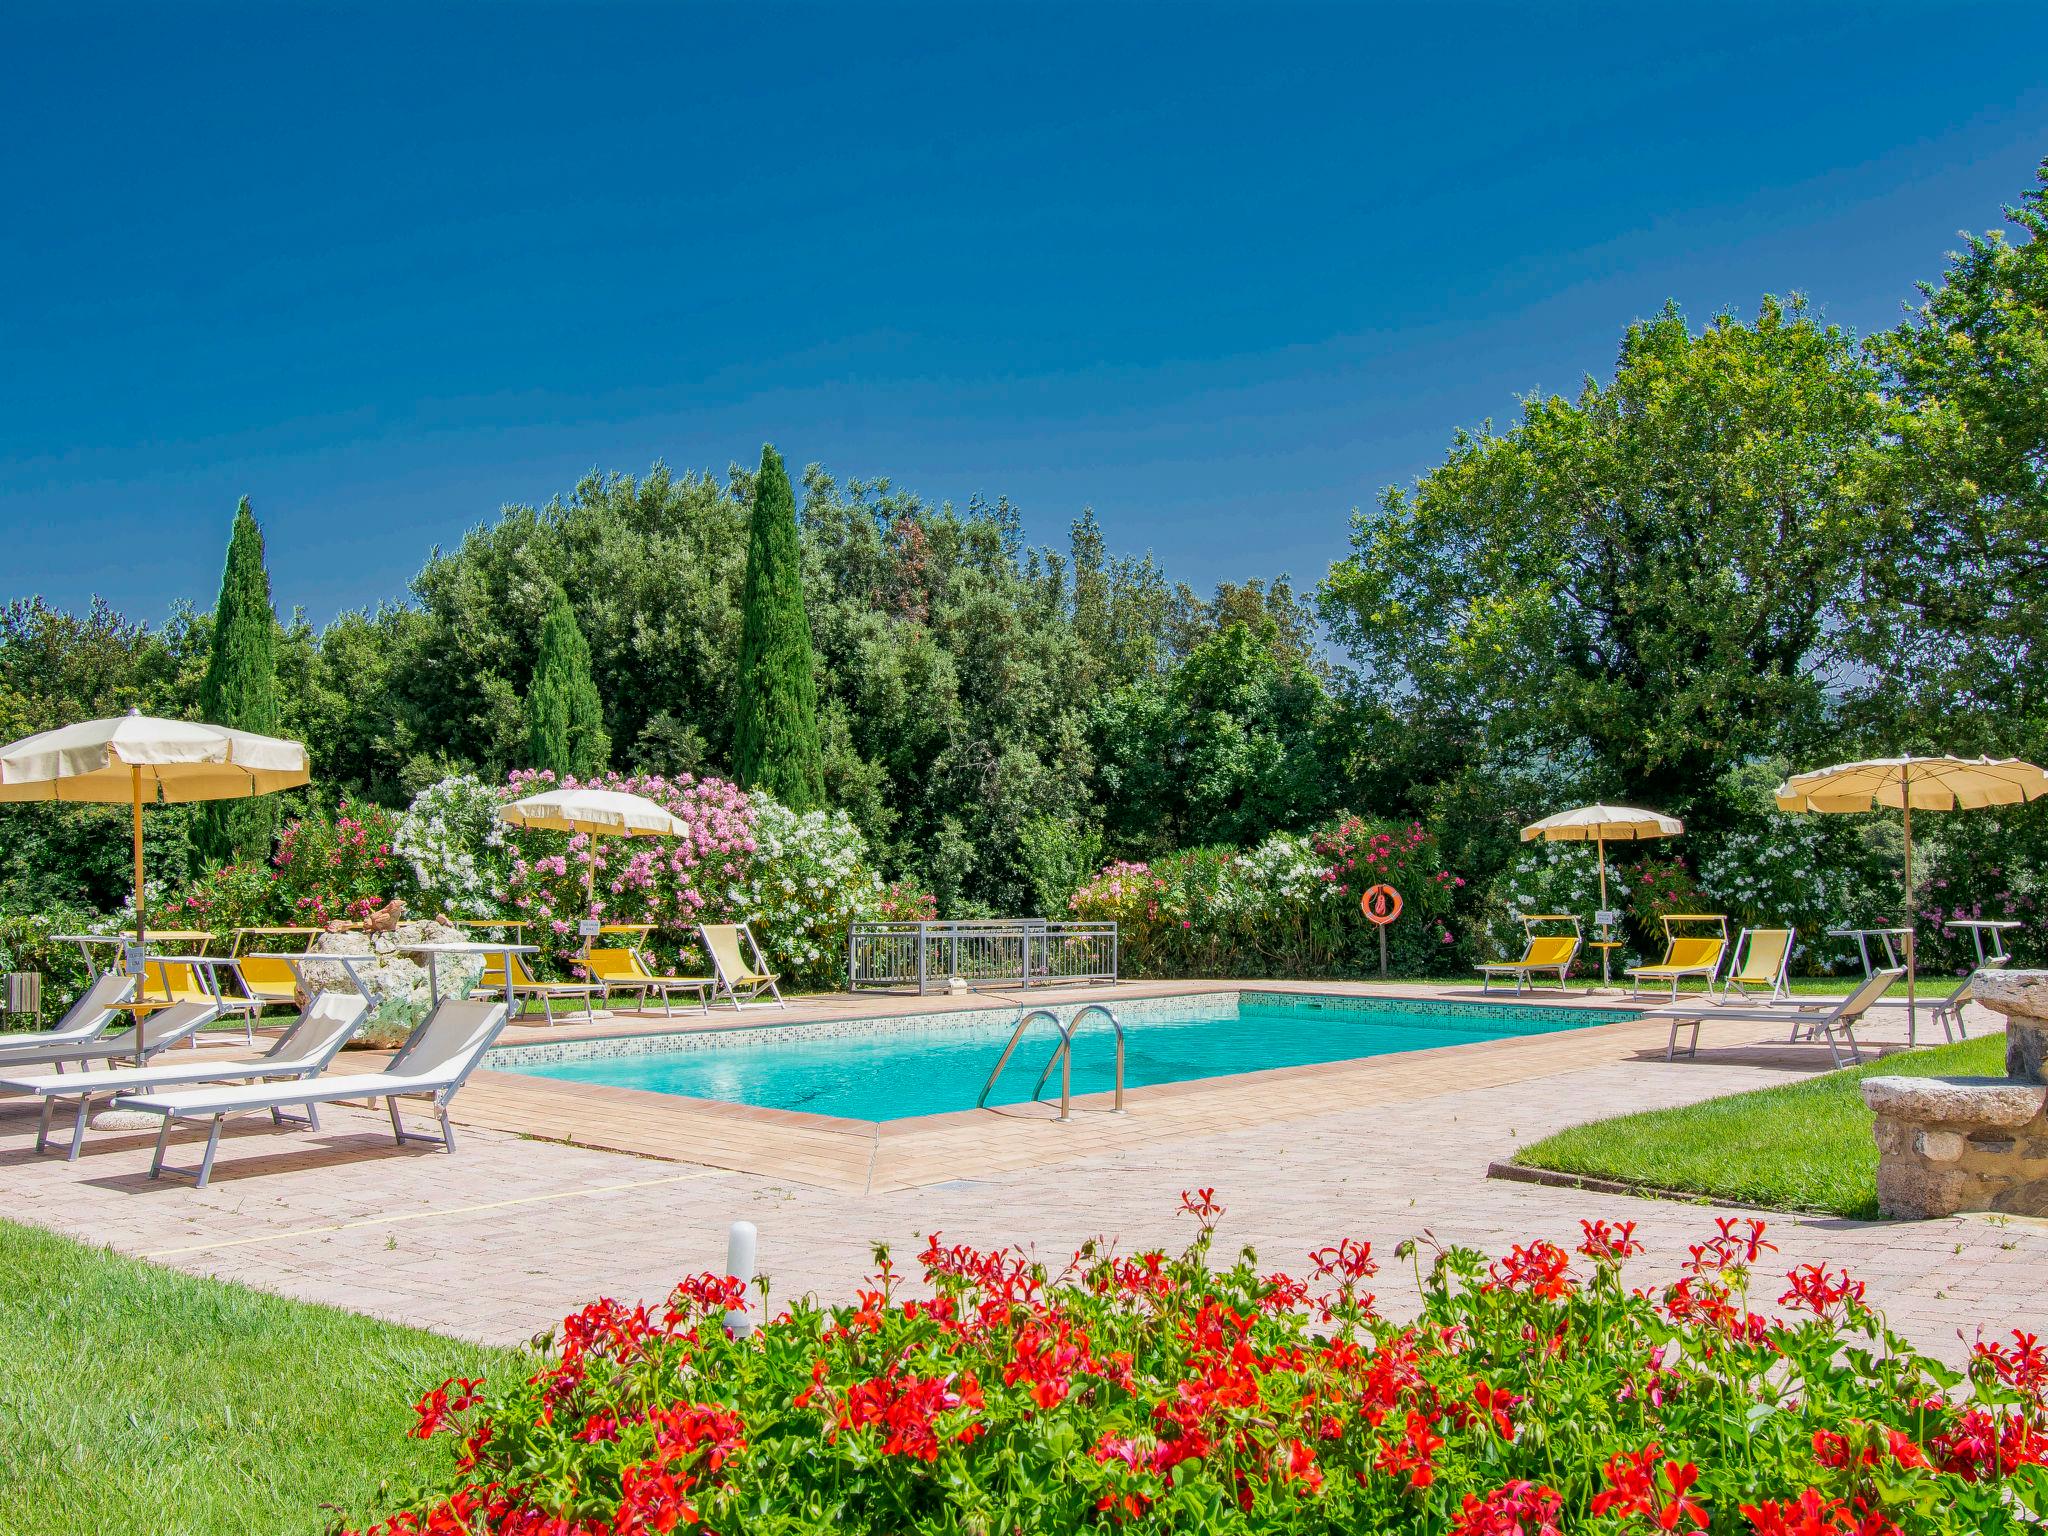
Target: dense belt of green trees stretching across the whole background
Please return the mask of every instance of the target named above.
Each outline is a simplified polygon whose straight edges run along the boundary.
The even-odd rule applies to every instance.
[[[801,788],[776,797],[844,813],[864,866],[944,915],[1057,915],[1120,860],[1190,903],[1184,938],[1161,926],[1126,950],[1145,967],[1374,969],[1356,907],[1303,907],[1280,874],[1243,887],[1266,918],[1202,905],[1276,834],[1350,809],[1419,823],[1421,879],[1462,877],[1442,909],[1403,885],[1415,920],[1391,932],[1403,969],[1454,969],[1511,944],[1530,899],[1589,915],[1591,852],[1538,870],[1516,834],[1610,799],[1688,823],[1681,844],[1610,848],[1638,952],[1659,911],[1706,903],[1792,922],[1802,967],[1837,965],[1825,928],[1898,918],[1896,825],[1788,819],[1769,786],[1880,752],[2048,754],[2040,174],[2011,238],[1968,238],[1864,342],[1800,299],[1628,326],[1612,377],[1456,432],[1440,467],[1356,514],[1315,602],[1284,578],[1196,596],[1112,555],[1094,512],[1065,549],[1030,549],[1001,500],[930,504],[817,467],[784,500],[772,451],[723,479],[592,475],[436,551],[403,602],[276,627],[276,727],[317,774],[299,799],[397,811],[537,766],[528,684],[565,596],[610,764],[748,782],[748,721],[795,729],[811,688]],[[8,604],[0,737],[197,713],[215,627]],[[766,717],[743,678],[780,700]],[[193,819],[152,813],[150,874],[172,893],[209,862]],[[1968,963],[1937,928],[1958,913],[2013,915],[2015,950],[2048,956],[2048,811],[1915,831],[1931,965]],[[0,850],[0,911],[123,899],[117,813],[10,807]]]

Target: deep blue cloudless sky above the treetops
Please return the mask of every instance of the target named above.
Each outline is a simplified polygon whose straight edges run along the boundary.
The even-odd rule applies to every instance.
[[[14,6],[0,596],[397,596],[592,467],[1343,553],[1622,326],[1890,324],[2048,154],[2048,6]]]

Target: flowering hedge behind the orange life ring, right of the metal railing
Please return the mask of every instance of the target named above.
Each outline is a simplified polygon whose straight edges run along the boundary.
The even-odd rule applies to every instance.
[[[1450,913],[1464,879],[1415,821],[1346,815],[1311,834],[1276,831],[1247,852],[1118,860],[1067,907],[1083,922],[1120,924],[1130,975],[1366,975],[1378,971],[1378,936],[1358,899],[1376,883],[1403,899],[1389,928],[1391,969],[1458,969]]]

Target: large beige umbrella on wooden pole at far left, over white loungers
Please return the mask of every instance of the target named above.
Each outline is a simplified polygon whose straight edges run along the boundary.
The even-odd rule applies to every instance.
[[[305,748],[274,735],[129,711],[0,748],[0,801],[131,805],[135,811],[135,946],[141,948],[141,807],[240,801],[307,782]],[[143,1016],[135,1016],[141,1059]]]

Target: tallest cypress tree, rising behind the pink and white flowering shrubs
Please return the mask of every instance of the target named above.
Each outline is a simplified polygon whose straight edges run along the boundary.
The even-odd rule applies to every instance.
[[[762,473],[754,481],[739,623],[739,702],[733,719],[739,784],[766,788],[793,811],[821,807],[825,764],[817,745],[817,676],[811,618],[803,610],[797,498],[772,444],[762,446]]]

